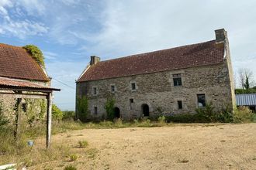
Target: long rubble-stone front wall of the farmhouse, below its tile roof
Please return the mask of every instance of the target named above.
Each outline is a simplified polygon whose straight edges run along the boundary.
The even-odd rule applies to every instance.
[[[182,86],[179,87],[173,83],[173,74],[177,73],[182,75]],[[198,106],[197,94],[202,93],[206,95],[207,103],[213,102],[216,110],[220,110],[233,102],[229,75],[227,60],[223,59],[223,63],[212,66],[77,83],[77,97],[88,97],[88,109],[95,118],[106,114],[107,97],[116,100],[116,107],[124,119],[142,117],[143,104],[149,106],[150,117],[157,116],[157,110],[165,114],[194,113]],[[136,90],[131,89],[131,83],[136,83]],[[116,92],[111,92],[111,85],[116,87]],[[97,89],[96,95],[93,87]],[[178,109],[178,100],[182,100],[182,109]],[[97,114],[94,107],[97,107]]]

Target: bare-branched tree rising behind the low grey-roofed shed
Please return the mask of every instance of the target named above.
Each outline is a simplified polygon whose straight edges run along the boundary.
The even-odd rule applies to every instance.
[[[242,89],[248,90],[254,86],[253,73],[251,70],[243,68],[238,71],[239,83]]]

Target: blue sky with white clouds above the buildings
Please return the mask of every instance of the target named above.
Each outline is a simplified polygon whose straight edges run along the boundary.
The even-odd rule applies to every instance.
[[[112,59],[204,42],[221,28],[234,71],[249,68],[256,79],[253,0],[0,0],[0,42],[42,49],[52,85],[61,88],[54,103],[63,110],[74,110],[74,82],[89,56]]]

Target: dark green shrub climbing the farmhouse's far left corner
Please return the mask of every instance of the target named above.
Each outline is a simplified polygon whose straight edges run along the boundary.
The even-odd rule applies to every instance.
[[[82,122],[85,122],[88,116],[88,98],[78,97],[77,98],[77,119]]]

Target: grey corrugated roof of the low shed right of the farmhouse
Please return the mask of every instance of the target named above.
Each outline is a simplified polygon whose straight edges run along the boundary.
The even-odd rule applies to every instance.
[[[256,106],[256,93],[236,94],[237,106]]]

